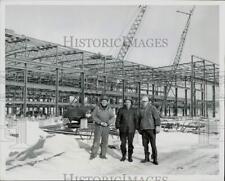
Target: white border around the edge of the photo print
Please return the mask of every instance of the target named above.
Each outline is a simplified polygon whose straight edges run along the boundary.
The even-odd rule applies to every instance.
[[[10,5],[218,5],[219,6],[219,63],[220,63],[220,173],[218,176],[210,175],[163,175],[168,181],[222,181],[224,180],[224,72],[225,72],[225,1],[167,1],[167,0],[0,0],[0,75],[5,73],[5,7]],[[5,113],[5,80],[0,80],[0,128],[4,126]],[[5,179],[5,153],[4,142],[0,142],[0,180]]]

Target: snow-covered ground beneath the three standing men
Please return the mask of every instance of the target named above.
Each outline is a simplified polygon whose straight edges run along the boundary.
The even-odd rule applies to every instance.
[[[85,175],[217,175],[219,174],[219,136],[163,132],[157,135],[159,165],[140,163],[144,157],[141,136],[134,138],[133,162],[120,162],[120,141],[109,137],[107,160],[89,160],[92,140],[79,136],[42,135],[32,146],[20,151],[9,148],[6,178],[10,180],[62,180],[64,174]],[[70,177],[69,177],[70,178]],[[68,179],[69,179],[68,178]],[[70,178],[71,179],[71,178]],[[75,179],[75,178],[73,178]]]

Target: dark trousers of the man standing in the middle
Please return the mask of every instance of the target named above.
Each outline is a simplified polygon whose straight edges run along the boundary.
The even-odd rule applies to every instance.
[[[133,154],[133,139],[134,139],[134,132],[129,133],[128,131],[126,132],[120,132],[120,149],[123,155],[126,155],[127,149],[126,149],[126,144],[128,140],[128,154],[132,155]]]

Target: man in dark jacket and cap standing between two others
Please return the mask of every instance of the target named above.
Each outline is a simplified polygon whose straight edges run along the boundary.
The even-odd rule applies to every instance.
[[[124,107],[120,108],[116,118],[116,128],[119,129],[121,145],[120,149],[122,152],[122,158],[120,161],[126,160],[126,142],[128,140],[128,161],[132,162],[133,154],[133,138],[137,124],[137,112],[132,107],[132,100],[127,97],[125,100]]]

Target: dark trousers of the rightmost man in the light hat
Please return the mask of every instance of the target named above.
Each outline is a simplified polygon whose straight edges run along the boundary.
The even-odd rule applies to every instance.
[[[142,130],[142,144],[144,146],[145,156],[149,156],[148,144],[152,147],[152,159],[157,159],[156,133],[154,129]]]

